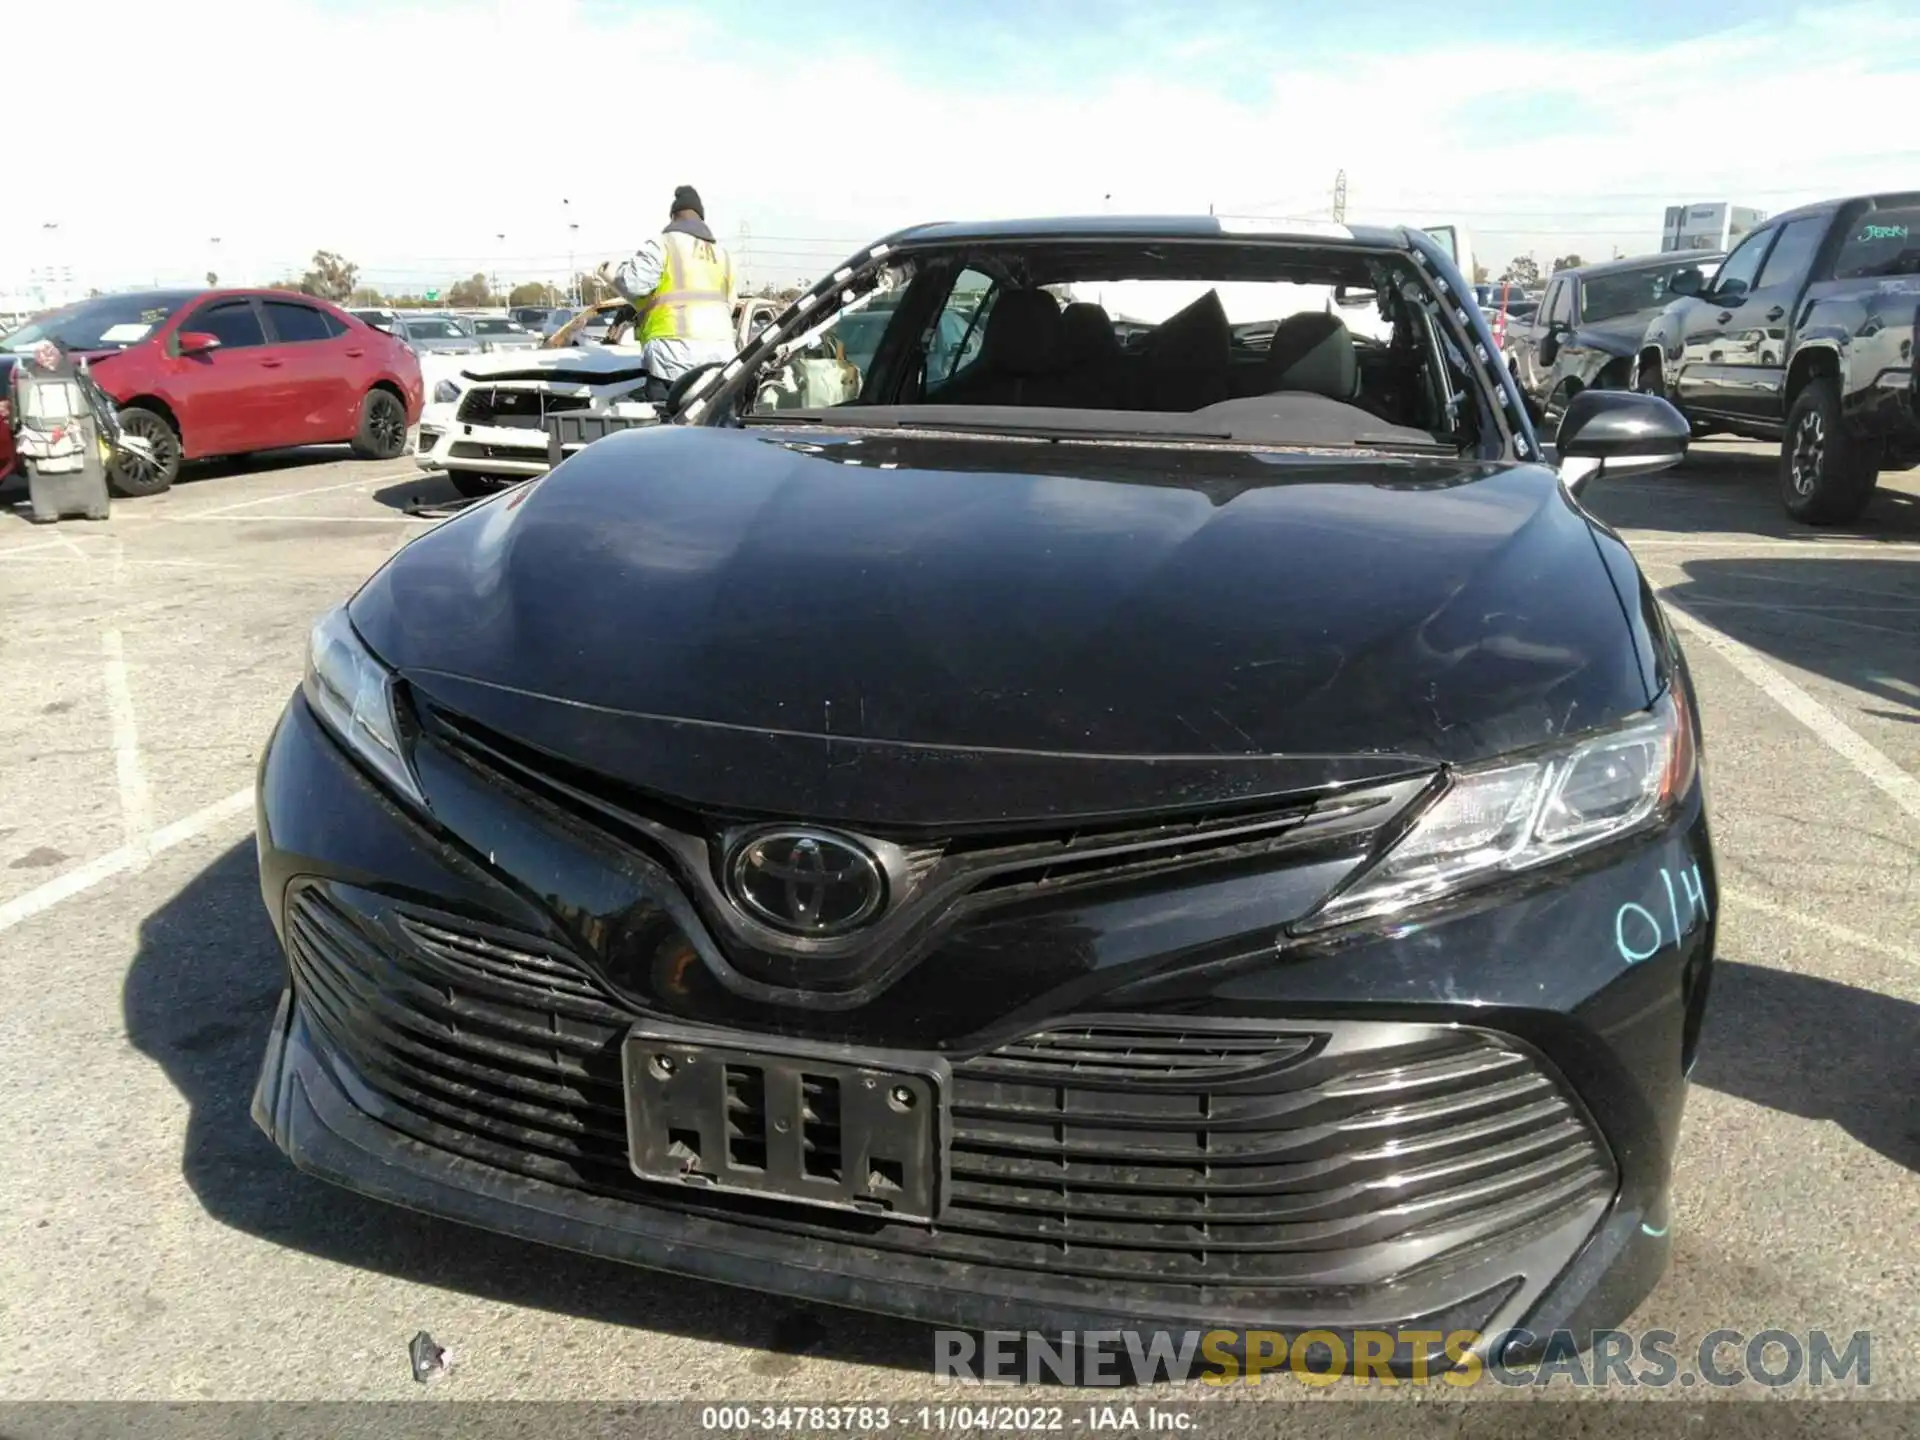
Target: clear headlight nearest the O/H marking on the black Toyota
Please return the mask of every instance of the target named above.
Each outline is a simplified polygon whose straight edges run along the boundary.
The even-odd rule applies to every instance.
[[[1693,768],[1693,726],[1670,689],[1615,730],[1455,770],[1382,856],[1294,929],[1392,914],[1657,826]]]

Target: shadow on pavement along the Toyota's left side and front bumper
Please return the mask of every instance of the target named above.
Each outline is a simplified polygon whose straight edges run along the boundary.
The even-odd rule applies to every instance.
[[[140,924],[121,993],[127,1039],[190,1106],[180,1169],[213,1219],[413,1284],[755,1350],[749,1369],[768,1379],[799,1369],[801,1356],[931,1367],[933,1331],[924,1325],[536,1246],[301,1175],[250,1114],[282,977],[252,837]],[[440,1334],[432,1292],[411,1304]]]

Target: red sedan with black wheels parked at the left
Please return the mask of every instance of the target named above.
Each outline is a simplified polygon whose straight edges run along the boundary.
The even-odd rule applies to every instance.
[[[346,442],[394,459],[420,419],[420,361],[384,330],[284,290],[144,290],[56,309],[0,340],[6,367],[40,340],[84,355],[152,461],[109,474],[121,495],[156,495],[182,461]],[[4,397],[4,388],[0,388]],[[0,476],[13,445],[0,426]]]

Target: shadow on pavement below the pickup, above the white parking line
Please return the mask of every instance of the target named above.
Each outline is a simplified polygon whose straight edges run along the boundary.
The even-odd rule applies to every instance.
[[[1872,557],[1686,561],[1661,599],[1763,655],[1920,724],[1920,564]]]

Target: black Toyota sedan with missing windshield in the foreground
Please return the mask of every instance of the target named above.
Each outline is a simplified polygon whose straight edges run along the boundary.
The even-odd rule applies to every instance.
[[[931,225],[420,536],[261,762],[255,1119],[950,1325],[1620,1321],[1716,891],[1580,493],[1688,428],[1548,463],[1484,324],[1415,230]]]

